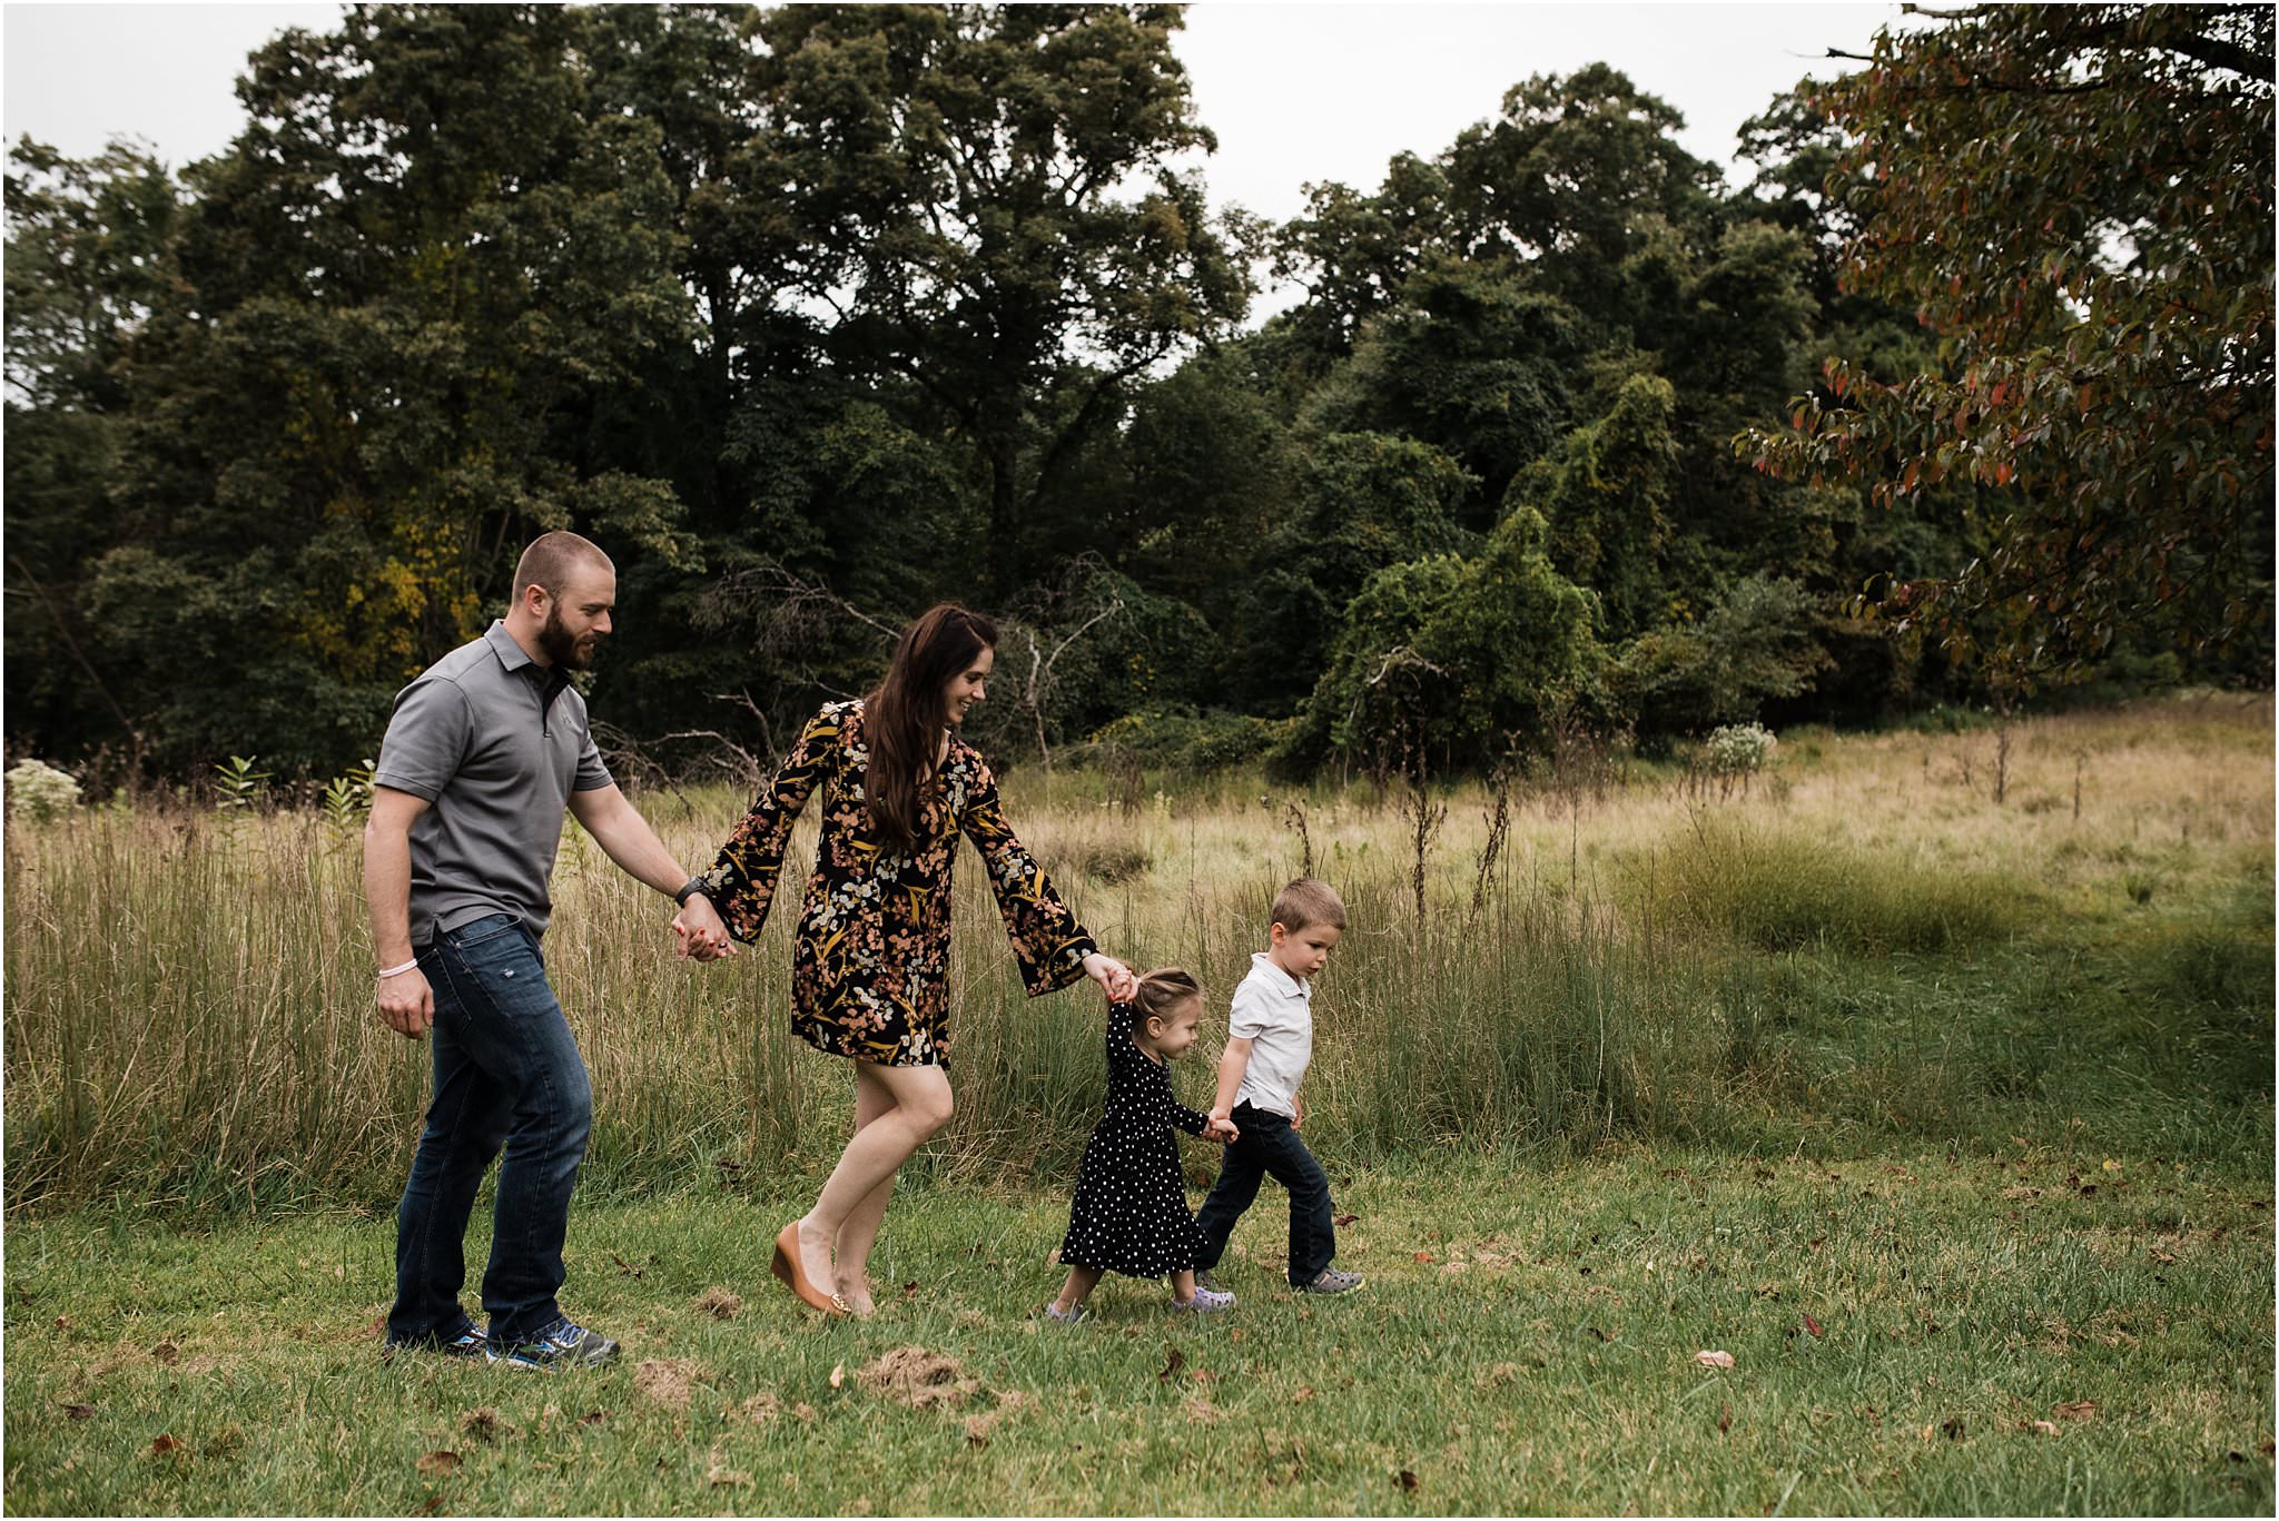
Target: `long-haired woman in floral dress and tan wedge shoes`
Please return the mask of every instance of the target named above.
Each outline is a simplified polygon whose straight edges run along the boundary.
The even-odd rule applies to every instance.
[[[937,607],[896,645],[868,698],[827,702],[704,873],[736,940],[768,919],[791,825],[818,784],[823,839],[791,951],[791,1028],[855,1063],[855,1136],[804,1218],[775,1238],[775,1275],[825,1313],[868,1316],[871,1243],[896,1170],[950,1117],[950,864],[982,853],[1030,997],[1080,976],[1137,990],[1101,955],[1005,823],[989,766],[957,725],[987,691],[996,627]]]

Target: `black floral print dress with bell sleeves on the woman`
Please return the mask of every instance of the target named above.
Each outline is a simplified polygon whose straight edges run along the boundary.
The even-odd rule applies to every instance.
[[[784,846],[823,789],[823,839],[791,946],[791,1028],[834,1056],[884,1067],[950,1060],[950,867],[957,837],[982,853],[1030,997],[1085,976],[1098,946],[1014,837],[982,757],[950,737],[921,810],[918,848],[887,844],[864,798],[861,700],[827,702],[702,876],[729,935],[757,940]]]

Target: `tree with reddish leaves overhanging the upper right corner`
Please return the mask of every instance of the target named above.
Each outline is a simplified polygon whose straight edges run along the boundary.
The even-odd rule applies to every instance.
[[[2003,5],[1885,30],[1814,91],[1851,135],[1853,287],[1942,367],[1835,360],[1739,449],[1880,502],[1987,493],[1987,552],[1889,586],[1955,654],[2069,666],[2131,634],[2268,670],[2272,11]]]

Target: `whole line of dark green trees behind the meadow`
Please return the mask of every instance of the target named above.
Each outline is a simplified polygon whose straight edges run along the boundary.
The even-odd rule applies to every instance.
[[[7,743],[330,775],[547,527],[659,771],[934,600],[996,750],[1294,775],[2268,682],[2272,16],[1942,16],[1746,185],[1593,64],[1276,226],[1169,5],[351,7],[11,151]]]

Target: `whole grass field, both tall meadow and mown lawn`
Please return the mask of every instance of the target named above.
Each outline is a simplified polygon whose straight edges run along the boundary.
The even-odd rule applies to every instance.
[[[1128,1279],[1030,1316],[1096,1003],[1019,997],[971,862],[959,1113],[884,1309],[795,1311],[754,1243],[848,1095],[782,1028],[786,926],[670,965],[572,839],[565,1302],[627,1361],[570,1377],[378,1357],[424,1072],[369,1026],[353,839],[11,825],[7,1510],[2270,1514],[2270,723],[2040,718],[2001,805],[1985,732],[1789,734],[1746,794],[1543,778],[1486,871],[1493,798],[1436,794],[1422,917],[1399,791],[1016,775],[1135,962],[1231,987],[1306,853],[1354,908],[1308,1138],[1370,1286],[1283,1293],[1269,1190],[1208,1325]],[[732,810],[650,800],[691,860]],[[946,1382],[873,1389],[889,1355]]]

